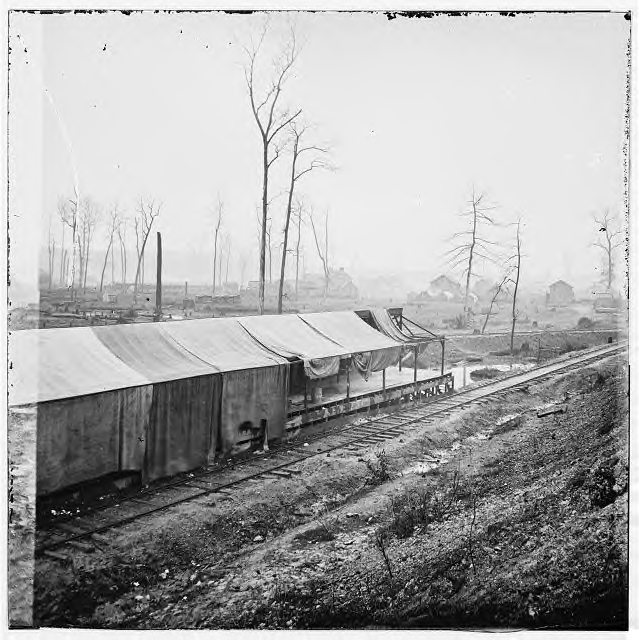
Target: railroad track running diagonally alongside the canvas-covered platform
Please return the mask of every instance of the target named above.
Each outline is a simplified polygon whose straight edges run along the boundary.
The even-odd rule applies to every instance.
[[[93,551],[96,543],[105,540],[101,534],[110,529],[212,494],[220,499],[232,499],[233,492],[248,482],[290,478],[299,474],[299,464],[308,458],[339,449],[356,452],[364,447],[381,444],[400,437],[417,423],[428,424],[462,407],[489,402],[518,387],[538,382],[556,373],[581,368],[625,349],[627,344],[621,343],[590,349],[578,355],[563,356],[527,371],[509,374],[450,395],[435,396],[427,403],[410,404],[392,413],[360,418],[354,423],[327,430],[312,438],[278,447],[260,458],[239,461],[230,468],[204,469],[199,473],[187,474],[159,486],[119,497],[117,502],[93,506],[79,515],[51,519],[41,523],[36,531],[36,555],[44,554],[67,560],[68,557],[59,553],[60,550]],[[327,445],[328,439],[330,443]]]

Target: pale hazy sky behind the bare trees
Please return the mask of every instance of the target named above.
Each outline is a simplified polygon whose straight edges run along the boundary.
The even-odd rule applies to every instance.
[[[243,252],[246,278],[257,276],[260,141],[241,43],[264,15],[11,16],[14,278],[33,278],[49,217],[59,234],[56,202],[75,180],[81,195],[130,215],[139,196],[162,201],[157,230],[176,281],[211,280],[219,194],[231,274]],[[623,218],[623,14],[273,14],[263,77],[291,20],[303,49],[282,104],[303,109],[338,167],[299,183],[317,216],[330,211],[335,266],[445,271],[445,241],[462,228],[474,184],[498,219],[521,215],[525,280],[596,277],[591,214],[609,207]],[[272,205],[274,234],[285,200]],[[307,268],[319,271],[305,234]]]

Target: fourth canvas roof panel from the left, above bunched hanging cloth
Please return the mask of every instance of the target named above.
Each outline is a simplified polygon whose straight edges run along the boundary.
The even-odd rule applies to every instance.
[[[306,362],[350,354],[347,348],[323,336],[298,315],[247,316],[239,321],[258,342],[285,358]]]

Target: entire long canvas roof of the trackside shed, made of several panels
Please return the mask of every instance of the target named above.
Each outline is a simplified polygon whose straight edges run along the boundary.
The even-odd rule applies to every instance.
[[[310,377],[325,377],[336,372],[340,357],[397,346],[354,312],[15,331],[9,403],[273,367],[292,358],[304,361]]]

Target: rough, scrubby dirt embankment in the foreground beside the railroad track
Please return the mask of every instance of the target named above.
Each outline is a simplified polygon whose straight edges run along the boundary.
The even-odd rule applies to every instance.
[[[622,361],[385,449],[207,497],[39,559],[35,622],[110,628],[627,625]],[[551,402],[565,413],[537,417]],[[519,419],[504,422],[517,415]]]

